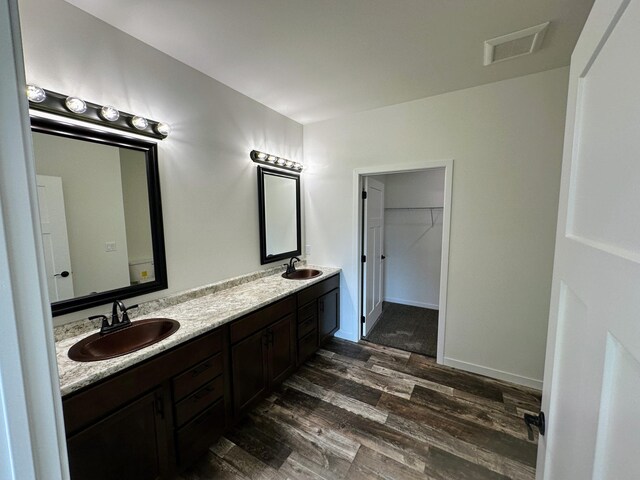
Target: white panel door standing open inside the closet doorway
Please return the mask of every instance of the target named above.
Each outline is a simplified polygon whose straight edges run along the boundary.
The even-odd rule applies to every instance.
[[[363,265],[362,335],[367,335],[382,313],[383,245],[384,245],[384,184],[365,177],[363,244],[366,260]]]

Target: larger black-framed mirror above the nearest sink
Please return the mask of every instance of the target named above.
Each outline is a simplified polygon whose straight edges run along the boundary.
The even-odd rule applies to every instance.
[[[167,288],[154,142],[31,118],[54,316]]]

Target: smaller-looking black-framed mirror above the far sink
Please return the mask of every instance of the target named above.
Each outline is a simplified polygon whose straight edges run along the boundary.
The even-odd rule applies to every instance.
[[[260,262],[300,255],[300,176],[258,167]]]

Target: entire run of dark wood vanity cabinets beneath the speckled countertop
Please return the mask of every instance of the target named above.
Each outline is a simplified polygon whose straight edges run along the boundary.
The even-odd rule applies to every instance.
[[[63,398],[73,480],[186,468],[340,326],[337,275]]]

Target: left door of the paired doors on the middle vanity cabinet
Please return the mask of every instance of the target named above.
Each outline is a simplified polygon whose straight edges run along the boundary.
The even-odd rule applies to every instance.
[[[242,415],[254,399],[269,387],[268,335],[266,329],[231,347],[233,406],[236,416]]]

